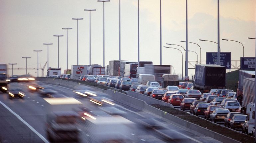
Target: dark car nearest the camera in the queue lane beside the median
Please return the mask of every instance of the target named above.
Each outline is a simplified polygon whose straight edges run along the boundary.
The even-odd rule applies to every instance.
[[[235,114],[232,117],[232,119],[229,121],[230,128],[232,128],[232,129],[242,128],[246,118],[248,118],[247,115]]]

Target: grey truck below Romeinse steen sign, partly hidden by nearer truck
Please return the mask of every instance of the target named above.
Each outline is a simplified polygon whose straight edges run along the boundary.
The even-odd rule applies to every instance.
[[[255,71],[246,71],[240,70],[239,71],[239,81],[237,83],[236,95],[243,96],[243,85],[244,85],[244,78],[255,78]]]

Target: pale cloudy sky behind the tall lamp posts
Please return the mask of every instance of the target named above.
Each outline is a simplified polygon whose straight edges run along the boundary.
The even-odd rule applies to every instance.
[[[140,0],[140,60],[160,61],[160,0]],[[243,55],[255,57],[255,0],[220,0],[220,47],[221,52],[231,52],[231,60],[240,60]],[[68,31],[68,68],[77,63],[77,21],[79,20],[79,65],[89,64],[89,12],[91,12],[91,62],[103,65],[103,3],[97,0],[0,0],[0,62],[17,63],[14,67],[25,67],[22,56],[31,56],[27,65],[43,66],[47,61],[49,46],[49,67],[58,67],[57,49],[60,37],[60,67],[66,69],[66,30]],[[137,61],[137,0],[121,0],[121,59]],[[188,0],[188,41],[200,45],[202,60],[206,52],[217,52],[217,0]],[[186,43],[186,0],[162,0],[162,46],[165,43],[181,45]],[[181,49],[177,46],[170,46]],[[119,58],[119,0],[105,3],[105,65],[109,60]],[[188,49],[198,53],[194,44]],[[196,60],[195,53],[188,54],[189,60]],[[162,48],[162,64],[172,65],[175,74],[181,74],[181,53],[178,50]],[[194,64],[194,63],[192,63]],[[235,64],[235,63],[232,63]],[[11,66],[9,66],[11,67]],[[192,68],[189,65],[189,68]],[[45,68],[45,75],[47,66]],[[37,70],[28,70],[35,75]],[[8,72],[11,74],[11,70]],[[184,72],[185,73],[185,72]],[[25,74],[25,70],[14,70],[14,74]],[[189,76],[194,69],[189,69]],[[185,74],[184,74],[185,75]],[[39,71],[41,76],[41,70]]]

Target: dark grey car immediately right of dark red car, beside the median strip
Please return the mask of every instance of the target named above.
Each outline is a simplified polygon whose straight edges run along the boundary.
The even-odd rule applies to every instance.
[[[227,114],[229,113],[228,109],[217,108],[214,109],[213,112],[210,114],[210,121],[216,122],[224,122]]]

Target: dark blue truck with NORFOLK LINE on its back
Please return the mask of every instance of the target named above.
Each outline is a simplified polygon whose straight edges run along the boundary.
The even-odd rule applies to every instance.
[[[194,89],[207,93],[211,89],[225,89],[226,67],[214,64],[196,64]]]

